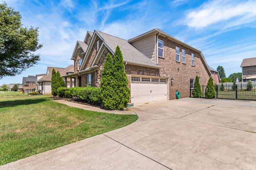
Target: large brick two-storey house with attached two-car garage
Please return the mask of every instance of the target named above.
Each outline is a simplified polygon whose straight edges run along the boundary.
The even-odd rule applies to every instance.
[[[202,85],[211,76],[201,51],[156,28],[130,40],[88,31],[84,42],[76,42],[71,57],[74,73],[63,77],[74,77],[75,86],[100,87],[106,55],[114,56],[117,45],[122,51],[132,103],[176,99],[176,90],[180,97],[189,97],[196,75]]]

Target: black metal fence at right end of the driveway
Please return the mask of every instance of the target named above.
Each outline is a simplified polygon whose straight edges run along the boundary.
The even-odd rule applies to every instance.
[[[236,88],[233,85],[220,87],[221,85],[215,85],[216,99],[256,100],[256,84],[253,84],[251,89],[248,89],[247,84],[236,84]],[[205,89],[206,85],[201,85],[203,98],[205,98]],[[193,97],[192,90],[193,88],[190,87],[190,97]]]

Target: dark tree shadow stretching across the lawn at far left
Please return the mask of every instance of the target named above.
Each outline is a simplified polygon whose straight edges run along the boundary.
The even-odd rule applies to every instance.
[[[49,98],[39,98],[39,99],[26,99],[26,100],[15,100],[15,101],[0,101],[0,108],[4,107],[14,107],[18,105],[32,105],[41,103],[44,101],[49,101]]]

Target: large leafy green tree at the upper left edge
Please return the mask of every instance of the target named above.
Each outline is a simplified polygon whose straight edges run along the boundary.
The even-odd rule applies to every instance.
[[[0,79],[14,76],[40,61],[33,52],[38,44],[38,28],[26,28],[21,23],[20,12],[5,2],[0,4]]]

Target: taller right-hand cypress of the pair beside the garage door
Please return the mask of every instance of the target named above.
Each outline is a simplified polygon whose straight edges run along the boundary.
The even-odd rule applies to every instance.
[[[123,55],[120,47],[116,47],[113,60],[113,104],[114,110],[123,110],[130,99],[130,89],[128,79],[124,71]]]

